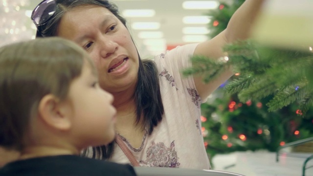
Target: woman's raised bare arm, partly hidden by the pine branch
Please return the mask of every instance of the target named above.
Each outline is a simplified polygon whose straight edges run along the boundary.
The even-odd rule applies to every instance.
[[[218,59],[224,56],[223,46],[236,40],[246,40],[249,37],[252,24],[255,21],[265,0],[246,0],[233,14],[227,28],[213,39],[199,44],[194,55],[207,56]],[[202,99],[209,96],[221,84],[232,76],[231,68],[219,76],[218,79],[204,84],[202,76],[194,76],[196,88]]]

